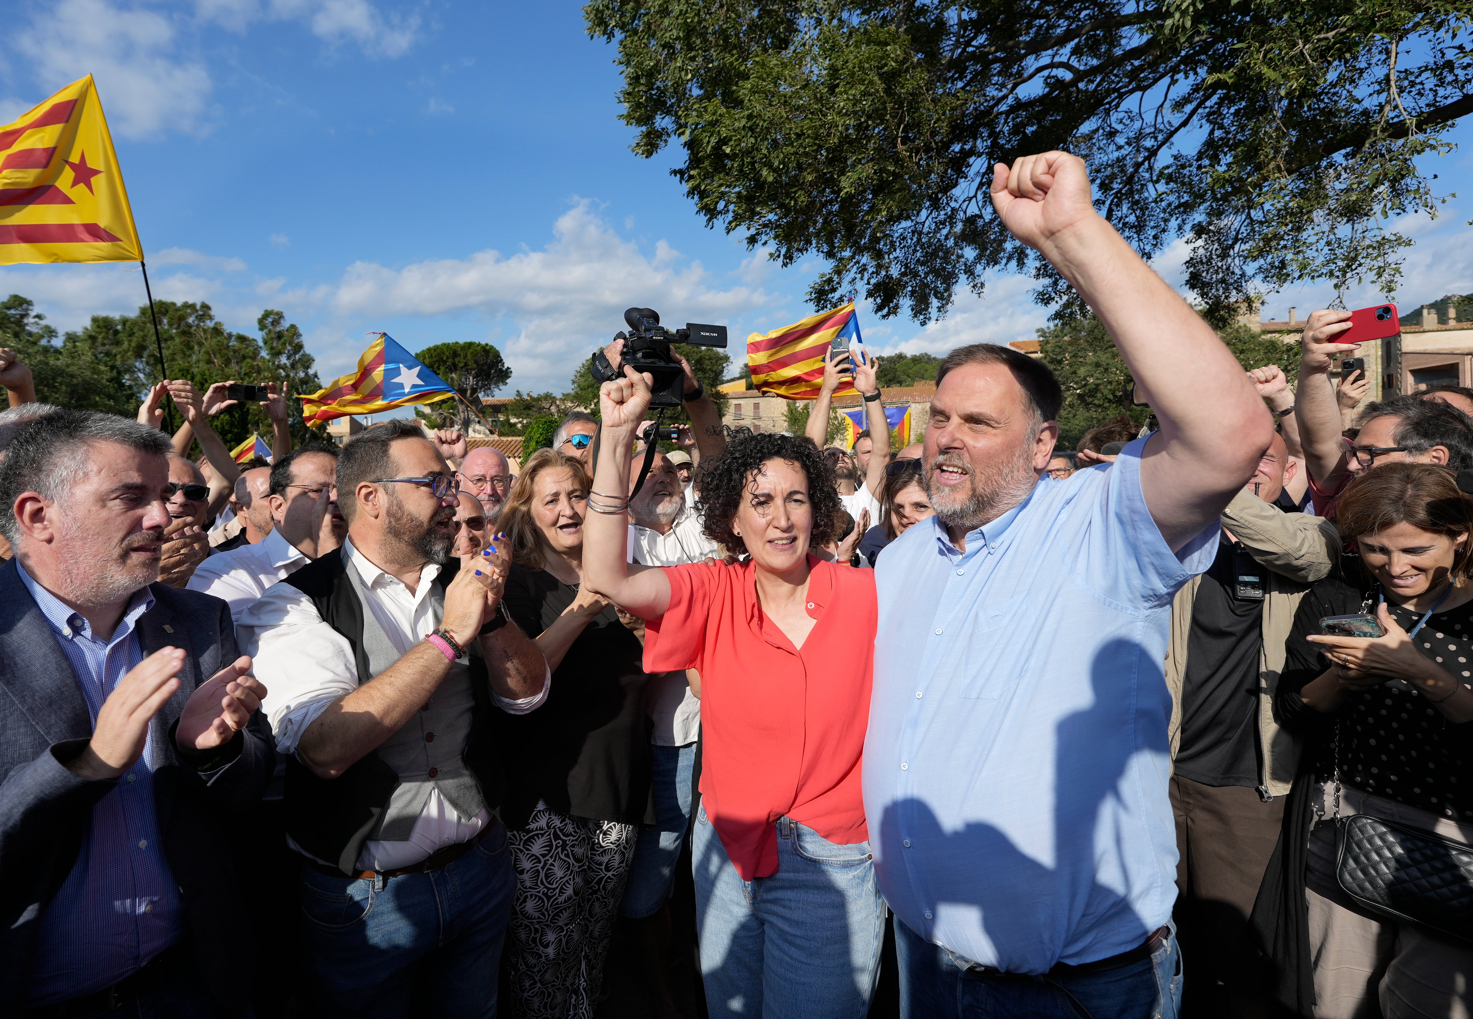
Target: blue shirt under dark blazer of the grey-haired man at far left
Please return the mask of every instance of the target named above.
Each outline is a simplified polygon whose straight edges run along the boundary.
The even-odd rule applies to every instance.
[[[16,563],[21,582],[46,616],[77,674],[93,726],[118,680],[143,661],[136,626],[153,607],[144,588],[133,596],[110,641]],[[164,858],[153,805],[153,769],[162,763],[158,720],[143,757],[93,807],[77,864],[41,914],[29,1006],[100,991],[149,962],[184,932],[178,885]]]

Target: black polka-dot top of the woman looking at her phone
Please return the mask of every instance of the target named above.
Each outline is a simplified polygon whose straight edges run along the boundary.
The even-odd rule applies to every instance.
[[[1376,595],[1371,595],[1371,605]],[[1318,645],[1324,616],[1361,611],[1360,592],[1339,580],[1314,585],[1295,616],[1289,657],[1279,680],[1276,708],[1290,730],[1320,730],[1315,775],[1335,773],[1339,736],[1340,782],[1364,792],[1420,807],[1442,817],[1473,822],[1473,722],[1454,724],[1402,679],[1352,694],[1333,714],[1305,707],[1299,691],[1329,667]],[[1389,604],[1389,602],[1388,602]],[[1408,633],[1421,618],[1401,605],[1392,617]],[[1473,685],[1473,602],[1436,613],[1416,636],[1417,651],[1464,685]]]

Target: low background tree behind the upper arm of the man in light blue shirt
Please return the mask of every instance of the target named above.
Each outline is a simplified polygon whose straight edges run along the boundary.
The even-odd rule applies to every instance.
[[[1243,371],[1276,364],[1289,375],[1290,384],[1298,375],[1298,343],[1255,333],[1240,322],[1220,330],[1218,336],[1243,365]],[[1137,424],[1146,421],[1149,408],[1125,405],[1125,389],[1134,380],[1109,333],[1093,315],[1040,328],[1038,342],[1040,358],[1053,368],[1064,389],[1059,449],[1074,449],[1086,431],[1122,412]]]

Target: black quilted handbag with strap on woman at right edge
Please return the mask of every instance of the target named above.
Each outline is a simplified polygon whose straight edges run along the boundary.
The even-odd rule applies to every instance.
[[[1473,847],[1373,814],[1340,817],[1339,724],[1335,879],[1373,913],[1473,944]]]

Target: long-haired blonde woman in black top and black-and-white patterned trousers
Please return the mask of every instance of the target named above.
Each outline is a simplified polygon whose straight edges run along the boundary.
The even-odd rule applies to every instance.
[[[552,683],[536,711],[498,717],[517,870],[507,1006],[517,1018],[594,1015],[650,801],[642,648],[583,583],[586,511],[583,464],[541,449],[496,521],[513,558],[502,605],[538,642]]]

